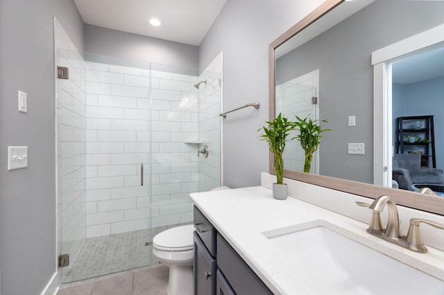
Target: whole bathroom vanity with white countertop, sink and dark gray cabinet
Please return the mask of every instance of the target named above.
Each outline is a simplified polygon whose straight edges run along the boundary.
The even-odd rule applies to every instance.
[[[442,249],[416,253],[369,235],[372,211],[355,201],[372,199],[287,183],[293,197],[284,201],[273,198],[267,179],[262,186],[191,194],[196,294],[444,294]],[[304,197],[327,199],[332,209]],[[442,222],[440,215],[406,210],[400,208],[400,217],[411,210]],[[425,244],[429,231],[444,240],[443,231],[424,229]]]

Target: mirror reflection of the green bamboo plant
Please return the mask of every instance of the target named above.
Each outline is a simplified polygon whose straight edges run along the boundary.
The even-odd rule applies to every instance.
[[[304,172],[309,173],[313,153],[318,150],[319,140],[324,137],[321,133],[332,129],[322,129],[321,125],[318,124],[318,122],[328,123],[327,120],[311,120],[308,116],[305,119],[296,116],[296,119],[297,121],[294,124],[299,129],[299,135],[296,138],[300,141],[302,150],[305,152]]]

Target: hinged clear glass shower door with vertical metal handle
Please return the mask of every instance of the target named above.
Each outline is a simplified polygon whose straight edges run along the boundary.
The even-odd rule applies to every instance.
[[[62,283],[151,262],[149,64],[117,66],[94,55],[85,55],[85,60],[79,61],[84,64],[83,76],[79,74],[84,79],[83,89],[79,87],[84,97],[83,132],[78,135],[79,143],[65,143],[62,138],[61,145],[62,154],[73,146],[83,148],[83,166],[77,174],[83,177],[82,185],[76,188],[82,197],[71,206],[73,194],[64,189],[61,194],[61,217],[67,220],[62,222],[61,248],[71,256],[69,267],[62,268]],[[74,83],[74,77],[65,83]],[[59,89],[59,95],[64,92]],[[69,121],[65,114],[69,112],[62,111],[62,125]],[[67,155],[67,159],[71,157]],[[62,161],[62,171],[67,163]],[[81,214],[68,222],[73,211]],[[73,223],[81,229],[76,239],[67,238]]]

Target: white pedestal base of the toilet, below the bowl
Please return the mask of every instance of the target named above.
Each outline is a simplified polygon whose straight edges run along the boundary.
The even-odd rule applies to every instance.
[[[193,295],[194,280],[192,265],[171,265],[169,267],[168,295]]]

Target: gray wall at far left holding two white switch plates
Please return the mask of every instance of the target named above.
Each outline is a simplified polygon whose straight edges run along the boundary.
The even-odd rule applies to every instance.
[[[56,271],[53,16],[83,51],[74,1],[0,1],[1,294],[40,294]],[[28,168],[8,172],[8,145],[28,146]]]

